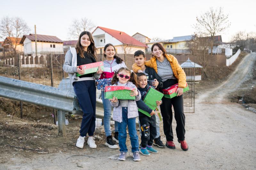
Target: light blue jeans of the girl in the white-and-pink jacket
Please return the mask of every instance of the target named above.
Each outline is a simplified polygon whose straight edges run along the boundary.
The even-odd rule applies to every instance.
[[[112,107],[110,105],[110,102],[108,99],[105,99],[105,94],[104,91],[101,91],[101,99],[104,107],[104,129],[105,129],[105,134],[106,137],[111,135],[111,127],[110,127],[110,119],[111,119],[111,110]],[[115,132],[118,132],[118,123],[115,122]]]

